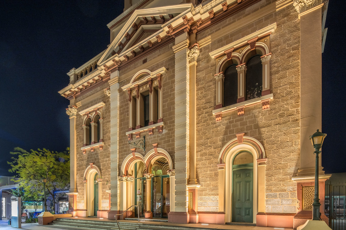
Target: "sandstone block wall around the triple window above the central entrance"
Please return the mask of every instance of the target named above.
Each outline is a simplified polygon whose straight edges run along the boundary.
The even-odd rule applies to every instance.
[[[173,162],[174,162],[174,53],[172,52],[172,46],[173,43],[170,43],[166,47],[163,47],[148,56],[146,56],[147,62],[150,60],[164,54],[171,52],[171,57],[165,57],[162,61],[154,64],[153,66],[146,68],[149,71],[155,71],[157,69],[160,69],[162,67],[165,67],[167,69],[166,74],[162,77],[162,97],[163,97],[163,132],[158,133],[157,129],[154,129],[153,135],[149,136],[148,132],[142,132],[140,133],[140,138],[142,138],[145,135],[145,147],[146,151],[144,152],[143,149],[136,148],[133,145],[130,145],[128,143],[128,138],[126,136],[126,132],[129,128],[129,103],[128,103],[128,93],[120,90],[119,94],[119,175],[121,175],[121,165],[124,162],[124,159],[131,154],[132,148],[136,148],[136,152],[145,154],[152,150],[153,144],[157,143],[158,148],[165,149],[171,156]],[[133,76],[130,76],[127,79],[122,80],[121,76],[123,74],[126,74],[128,71],[136,69],[137,71],[140,71],[144,69],[142,66],[143,60],[139,60],[132,64],[131,66],[128,66],[124,69],[120,70],[120,87],[125,86],[126,84],[130,83],[130,80]],[[133,134],[133,140],[136,140],[136,135]],[[124,172],[125,173],[125,172]]]

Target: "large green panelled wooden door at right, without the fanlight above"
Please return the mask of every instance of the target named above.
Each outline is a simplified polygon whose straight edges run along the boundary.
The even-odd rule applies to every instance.
[[[253,223],[253,169],[233,171],[232,222]]]

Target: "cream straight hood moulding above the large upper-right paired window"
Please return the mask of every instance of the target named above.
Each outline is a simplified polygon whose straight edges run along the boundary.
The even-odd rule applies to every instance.
[[[239,45],[241,45],[243,43],[246,43],[249,39],[254,38],[256,36],[260,37],[260,36],[262,36],[262,35],[264,35],[266,33],[274,32],[275,29],[276,29],[276,22],[271,24],[271,25],[269,25],[269,26],[267,26],[267,27],[264,27],[261,30],[258,30],[258,31],[254,32],[254,33],[251,33],[251,34],[249,34],[249,35],[247,35],[247,36],[245,36],[245,37],[243,37],[243,38],[241,38],[241,39],[239,39],[237,41],[234,41],[234,42],[232,42],[232,43],[230,43],[230,44],[228,44],[228,45],[226,45],[224,47],[221,47],[221,48],[219,48],[217,50],[214,50],[214,51],[210,52],[209,55],[210,55],[211,58],[215,59],[217,56],[220,56],[220,55],[224,54],[225,50],[228,50],[228,49],[230,49],[232,47],[237,47],[237,46],[239,46]]]

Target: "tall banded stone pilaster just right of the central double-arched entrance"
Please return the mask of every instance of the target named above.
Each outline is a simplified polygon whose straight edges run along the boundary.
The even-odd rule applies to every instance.
[[[175,37],[175,211],[170,212],[169,222],[189,223],[189,114],[190,114],[190,68],[188,61],[189,35]]]

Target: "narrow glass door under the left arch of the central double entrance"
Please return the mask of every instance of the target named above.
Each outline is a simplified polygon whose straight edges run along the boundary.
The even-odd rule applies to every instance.
[[[135,179],[135,205],[139,206],[139,217],[144,217],[146,199],[145,177]],[[137,207],[135,207],[135,217],[138,217]]]

